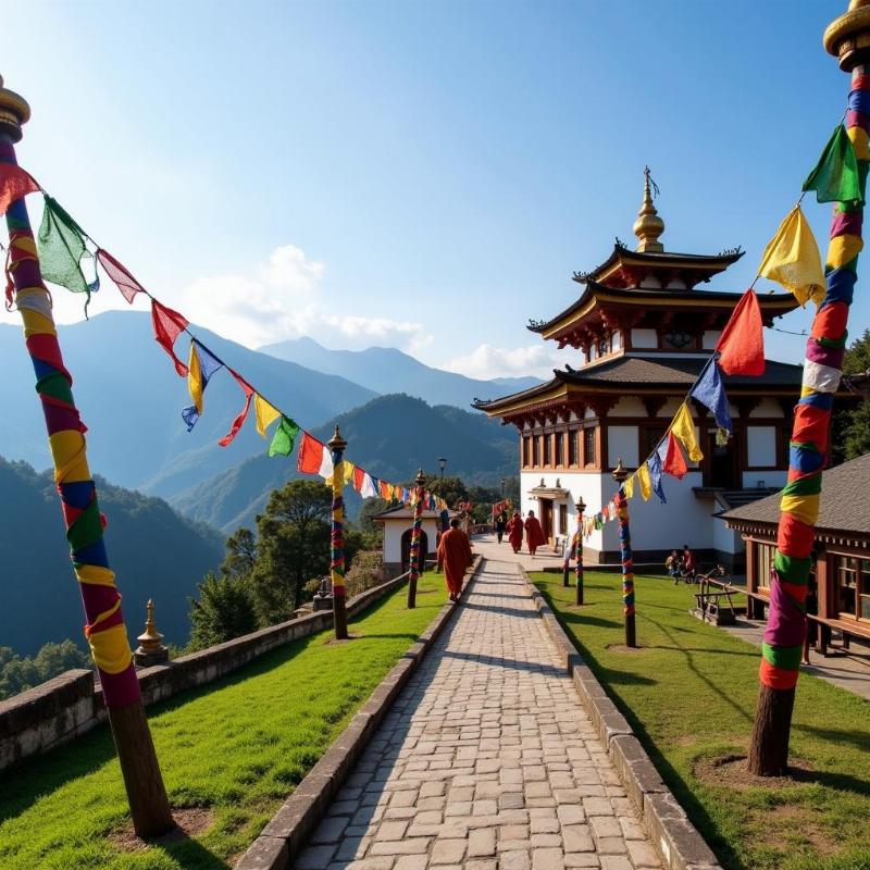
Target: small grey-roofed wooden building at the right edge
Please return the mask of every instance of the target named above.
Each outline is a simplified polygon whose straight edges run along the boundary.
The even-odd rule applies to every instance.
[[[818,616],[823,627],[870,641],[870,453],[822,473],[816,524]],[[746,542],[748,613],[763,618],[776,550],[780,496],[720,514]],[[825,632],[826,633],[826,632]]]

